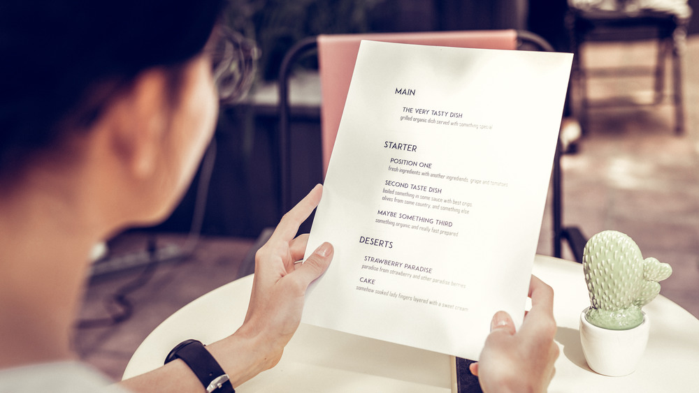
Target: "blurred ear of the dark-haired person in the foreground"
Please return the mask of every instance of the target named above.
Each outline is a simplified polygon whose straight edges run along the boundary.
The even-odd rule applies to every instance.
[[[168,78],[161,68],[140,73],[103,117],[113,152],[136,180],[152,177],[169,124]]]

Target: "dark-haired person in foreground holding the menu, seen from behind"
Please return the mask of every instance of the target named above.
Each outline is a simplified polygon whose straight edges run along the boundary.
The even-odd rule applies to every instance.
[[[245,69],[245,51],[215,27],[222,6],[0,1],[0,392],[94,392],[106,385],[70,346],[89,251],[124,228],[171,213],[210,141],[217,100],[244,87],[245,75],[231,71]],[[231,45],[236,57],[219,56]],[[257,253],[243,326],[195,350],[224,371],[212,391],[231,392],[274,366],[298,327],[305,289],[333,256],[326,243],[294,265],[307,240],[294,238],[296,230],[321,193],[317,186],[284,216]],[[505,314],[493,319],[473,369],[484,388],[506,381],[545,390],[558,350],[552,292],[533,279],[531,295],[520,332]],[[178,354],[113,389],[203,392],[198,376],[206,366]],[[503,370],[503,362],[523,372]]]

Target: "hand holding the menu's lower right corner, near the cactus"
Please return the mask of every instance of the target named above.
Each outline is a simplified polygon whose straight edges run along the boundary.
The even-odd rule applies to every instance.
[[[504,311],[493,316],[480,362],[470,365],[484,392],[546,392],[554,377],[554,362],[559,357],[554,342],[554,291],[531,276],[529,297],[531,311],[519,332]]]

